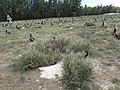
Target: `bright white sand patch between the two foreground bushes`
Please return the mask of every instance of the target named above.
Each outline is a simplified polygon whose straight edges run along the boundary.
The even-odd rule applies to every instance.
[[[55,65],[47,66],[47,67],[40,67],[39,70],[42,70],[41,72],[41,78],[46,79],[55,79],[56,76],[61,77],[62,76],[62,62],[57,63]]]

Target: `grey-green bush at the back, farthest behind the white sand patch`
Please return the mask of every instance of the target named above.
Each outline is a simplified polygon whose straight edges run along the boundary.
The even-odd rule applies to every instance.
[[[69,45],[70,40],[65,37],[56,37],[55,39],[47,38],[45,40],[42,40],[41,42],[38,42],[36,44],[36,49],[39,51],[42,50],[48,52],[51,50],[51,52],[58,52],[58,53],[64,53],[67,46]]]

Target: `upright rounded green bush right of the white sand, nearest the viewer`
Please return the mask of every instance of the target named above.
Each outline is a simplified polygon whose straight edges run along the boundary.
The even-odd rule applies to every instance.
[[[80,53],[71,53],[64,59],[62,83],[65,90],[93,90],[90,87],[92,65]]]

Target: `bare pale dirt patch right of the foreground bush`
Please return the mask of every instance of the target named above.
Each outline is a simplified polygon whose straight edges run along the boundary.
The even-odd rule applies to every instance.
[[[111,79],[116,75],[116,67],[110,66],[106,67],[101,63],[101,59],[95,59],[94,64],[94,77],[93,80],[97,85],[101,87],[101,90],[108,90],[109,87],[114,87],[115,85],[111,82]],[[112,71],[109,68],[114,68]]]

